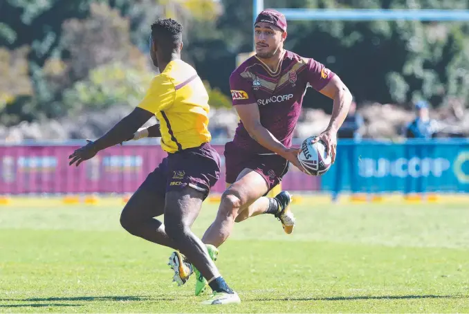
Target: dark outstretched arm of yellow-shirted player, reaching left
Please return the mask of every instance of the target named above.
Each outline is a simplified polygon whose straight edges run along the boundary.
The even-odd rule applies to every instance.
[[[89,140],[88,144],[84,147],[75,150],[73,154],[68,156],[68,159],[70,159],[68,165],[73,165],[75,163],[78,167],[78,165],[80,165],[84,160],[93,158],[98,151],[118,145],[129,138],[133,138],[134,133],[136,133],[138,128],[142,127],[142,125],[145,124],[152,116],[154,116],[154,114],[146,111],[145,109],[134,109],[134,111],[120,120],[112,129],[104,134],[104,136],[98,138],[98,140],[95,140],[94,142]]]

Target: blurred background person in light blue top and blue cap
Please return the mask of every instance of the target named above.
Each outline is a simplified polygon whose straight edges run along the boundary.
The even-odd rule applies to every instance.
[[[430,119],[428,102],[420,100],[416,102],[415,109],[417,117],[407,125],[405,129],[406,138],[434,138],[439,131],[439,123]]]

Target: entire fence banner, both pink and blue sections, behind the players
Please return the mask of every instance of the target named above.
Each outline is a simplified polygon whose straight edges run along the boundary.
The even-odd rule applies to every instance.
[[[301,143],[301,142],[300,142]],[[159,145],[124,145],[100,151],[80,167],[68,166],[78,146],[0,146],[0,194],[134,192],[167,156]],[[225,189],[221,176],[212,192]],[[469,192],[469,140],[338,144],[337,158],[323,176],[290,166],[282,181],[293,192]]]

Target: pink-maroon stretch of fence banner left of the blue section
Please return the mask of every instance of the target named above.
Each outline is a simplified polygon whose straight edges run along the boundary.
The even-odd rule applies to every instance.
[[[224,145],[212,145],[221,156],[221,176],[212,192],[225,190]],[[0,146],[0,194],[134,192],[167,156],[159,145],[109,147],[79,167],[68,166],[78,146]],[[320,178],[291,166],[282,181],[295,191],[317,191]]]

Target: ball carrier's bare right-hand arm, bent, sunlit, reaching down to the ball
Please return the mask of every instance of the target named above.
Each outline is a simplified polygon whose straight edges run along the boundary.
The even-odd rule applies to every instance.
[[[338,75],[334,75],[332,80],[320,90],[320,93],[333,100],[333,108],[329,126],[320,134],[320,136],[315,138],[315,142],[322,140],[326,143],[327,151],[330,152],[332,162],[334,162],[335,151],[337,148],[337,131],[347,117],[352,101],[352,95]]]

